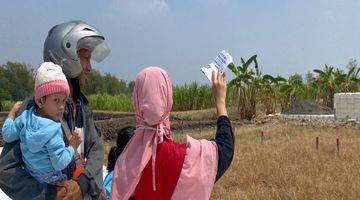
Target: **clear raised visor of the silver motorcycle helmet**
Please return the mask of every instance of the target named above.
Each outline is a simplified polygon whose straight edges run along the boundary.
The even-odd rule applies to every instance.
[[[98,63],[110,54],[109,46],[102,37],[84,37],[79,40],[77,49],[88,49],[91,52],[91,59]]]

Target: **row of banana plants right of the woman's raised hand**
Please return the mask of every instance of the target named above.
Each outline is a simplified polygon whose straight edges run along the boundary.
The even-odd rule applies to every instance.
[[[280,107],[283,111],[291,100],[308,99],[333,108],[333,97],[338,92],[360,91],[360,68],[355,59],[351,59],[345,70],[325,64],[302,76],[294,74],[288,78],[262,74],[257,55],[248,60],[241,58],[239,66],[229,66],[235,78],[229,83],[229,100],[237,104],[240,117],[252,119],[256,116],[256,107],[264,105],[266,114],[275,113]]]

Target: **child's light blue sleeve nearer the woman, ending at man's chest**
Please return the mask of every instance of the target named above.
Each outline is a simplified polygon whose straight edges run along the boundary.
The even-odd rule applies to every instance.
[[[67,167],[75,153],[72,147],[65,147],[61,128],[58,133],[48,141],[46,148],[49,152],[51,164],[56,171],[63,170]]]

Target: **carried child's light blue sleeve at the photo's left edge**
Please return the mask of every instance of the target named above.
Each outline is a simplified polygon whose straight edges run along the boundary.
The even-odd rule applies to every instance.
[[[22,128],[21,119],[12,120],[7,118],[2,128],[2,135],[5,142],[10,143],[20,139],[20,131]]]

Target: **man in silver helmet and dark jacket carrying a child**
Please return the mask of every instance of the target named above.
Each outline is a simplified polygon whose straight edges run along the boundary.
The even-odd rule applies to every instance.
[[[12,199],[100,199],[103,185],[102,161],[104,154],[101,133],[80,86],[86,83],[91,71],[90,60],[101,62],[109,54],[105,38],[82,21],[70,21],[54,26],[45,40],[44,61],[60,65],[68,78],[70,98],[62,122],[64,142],[69,143],[75,127],[80,128],[83,144],[73,161],[63,171],[72,180],[65,188],[37,182],[22,167],[19,141],[6,143],[0,157],[0,188]],[[24,103],[27,109],[33,98]]]

